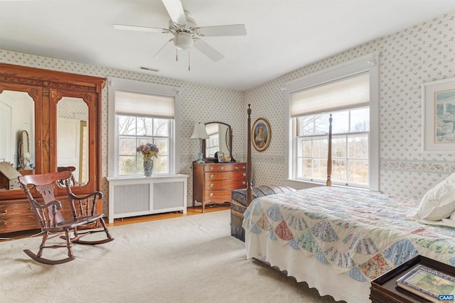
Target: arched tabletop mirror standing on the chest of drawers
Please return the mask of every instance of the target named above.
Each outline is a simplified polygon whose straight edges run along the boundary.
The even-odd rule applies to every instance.
[[[205,162],[218,162],[215,158],[215,153],[224,153],[225,157],[229,157],[232,161],[232,128],[224,122],[208,122],[205,123],[205,131],[209,136],[202,142],[203,160]]]

